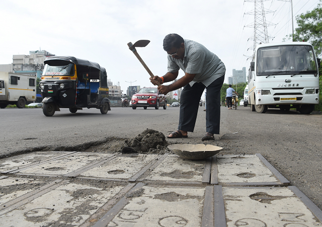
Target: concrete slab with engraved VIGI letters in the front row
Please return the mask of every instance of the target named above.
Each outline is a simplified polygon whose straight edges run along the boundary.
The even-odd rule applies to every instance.
[[[137,187],[94,227],[201,226],[204,196],[205,188]]]

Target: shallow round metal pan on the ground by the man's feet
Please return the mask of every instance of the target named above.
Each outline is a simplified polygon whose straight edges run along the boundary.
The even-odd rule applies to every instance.
[[[214,156],[222,147],[210,144],[172,144],[168,146],[173,153],[184,159],[201,160]]]

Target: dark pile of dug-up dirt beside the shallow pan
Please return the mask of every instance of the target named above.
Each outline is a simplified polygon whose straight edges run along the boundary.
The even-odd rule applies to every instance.
[[[132,139],[124,140],[122,153],[165,153],[168,142],[162,132],[146,129]]]

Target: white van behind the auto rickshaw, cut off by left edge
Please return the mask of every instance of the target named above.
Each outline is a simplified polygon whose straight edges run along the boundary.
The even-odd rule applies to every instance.
[[[0,108],[16,104],[24,108],[26,102],[36,100],[36,75],[0,72]]]

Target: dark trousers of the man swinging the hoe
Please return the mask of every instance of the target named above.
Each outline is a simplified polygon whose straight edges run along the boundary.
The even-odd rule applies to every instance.
[[[206,132],[219,134],[220,128],[220,89],[225,75],[212,82],[207,87],[206,94]],[[179,130],[193,132],[196,124],[199,102],[205,87],[195,83],[192,87],[186,85],[181,93]]]

